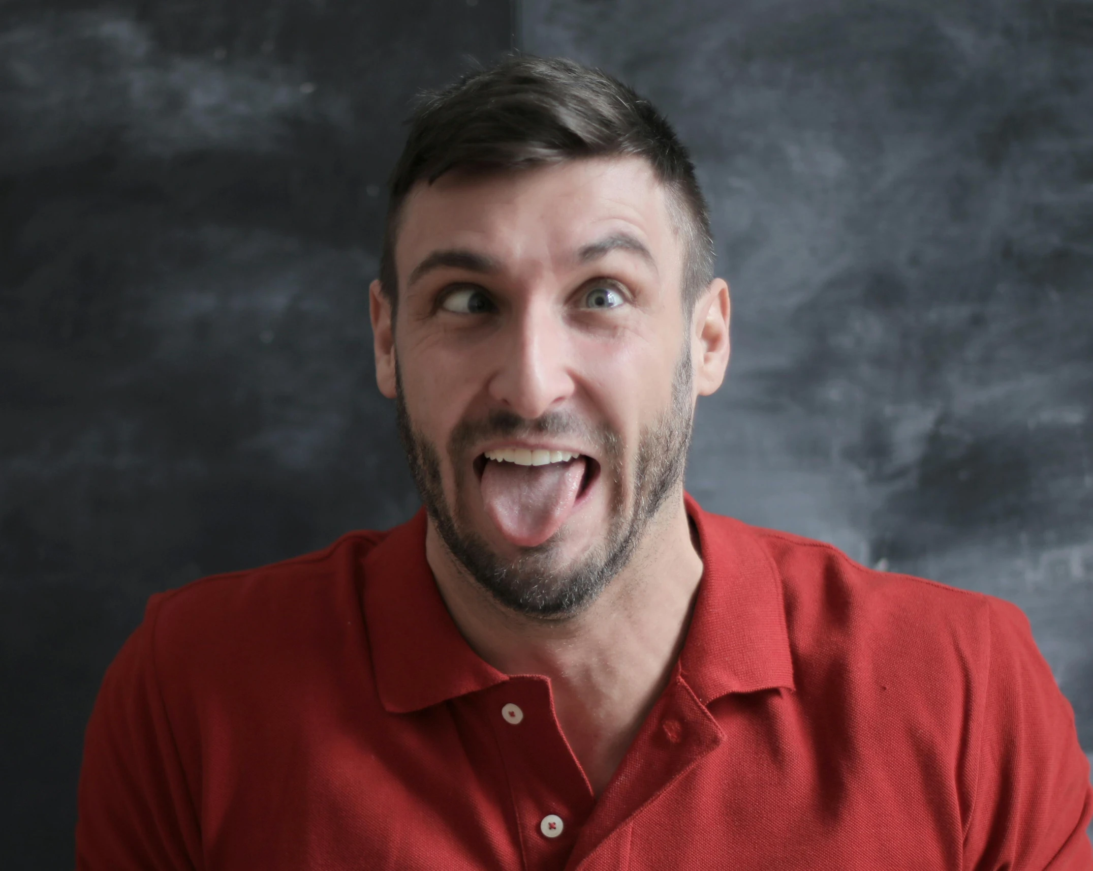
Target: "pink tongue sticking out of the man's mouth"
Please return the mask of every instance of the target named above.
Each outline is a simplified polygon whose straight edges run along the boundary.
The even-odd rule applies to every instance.
[[[565,522],[585,476],[584,457],[568,463],[520,466],[487,460],[482,499],[490,518],[508,541],[534,547]]]

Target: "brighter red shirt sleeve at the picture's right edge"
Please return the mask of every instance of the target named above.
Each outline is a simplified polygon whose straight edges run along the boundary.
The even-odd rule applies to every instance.
[[[1074,715],[1014,605],[990,606],[990,657],[966,869],[1093,871],[1090,766]]]

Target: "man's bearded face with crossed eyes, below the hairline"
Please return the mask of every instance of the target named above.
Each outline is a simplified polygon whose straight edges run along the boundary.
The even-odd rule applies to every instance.
[[[579,609],[682,478],[692,345],[663,188],[636,159],[453,173],[411,191],[395,255],[378,380],[437,532],[505,605]]]

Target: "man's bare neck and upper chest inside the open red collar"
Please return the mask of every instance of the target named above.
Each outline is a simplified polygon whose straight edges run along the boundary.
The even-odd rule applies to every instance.
[[[703,564],[682,493],[662,507],[599,599],[565,619],[500,605],[455,562],[432,522],[425,553],[471,648],[505,674],[550,678],[562,731],[599,794],[667,684],[686,635]]]

